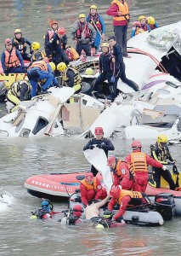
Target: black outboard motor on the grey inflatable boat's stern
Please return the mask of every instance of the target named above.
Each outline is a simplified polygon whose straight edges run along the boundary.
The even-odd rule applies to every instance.
[[[171,220],[175,215],[175,201],[172,194],[161,193],[155,197],[156,211],[164,220]]]

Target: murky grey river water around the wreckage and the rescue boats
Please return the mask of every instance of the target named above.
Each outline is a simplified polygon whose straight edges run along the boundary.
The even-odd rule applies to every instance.
[[[67,34],[77,14],[87,13],[90,4],[99,3],[104,15],[107,36],[112,34],[110,17],[105,15],[110,1],[0,1],[1,46],[4,38],[11,38],[20,28],[31,41],[43,43],[48,30],[48,19],[59,20]],[[166,0],[131,4],[131,21],[139,15],[153,15],[163,26],[180,19],[181,2]],[[131,29],[129,28],[130,33]],[[70,41],[71,44],[71,41]],[[0,104],[1,115],[5,113]],[[48,221],[32,221],[31,211],[40,206],[40,199],[29,195],[23,184],[27,177],[50,172],[88,171],[82,147],[88,141],[74,137],[60,138],[6,138],[0,140],[1,183],[3,189],[14,196],[14,204],[0,218],[0,255],[179,255],[181,218],[173,218],[161,227],[148,228],[127,224],[122,229],[93,230],[80,227],[61,227],[57,215]],[[130,142],[113,138],[115,154],[124,157],[130,153]],[[148,152],[150,141],[143,141]],[[173,157],[181,165],[180,145],[171,147]],[[54,204],[59,211],[65,202]]]

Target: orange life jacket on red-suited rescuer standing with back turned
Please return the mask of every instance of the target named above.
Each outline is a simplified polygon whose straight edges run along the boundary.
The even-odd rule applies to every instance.
[[[133,152],[131,154],[130,168],[133,172],[148,172],[146,154],[143,152]]]

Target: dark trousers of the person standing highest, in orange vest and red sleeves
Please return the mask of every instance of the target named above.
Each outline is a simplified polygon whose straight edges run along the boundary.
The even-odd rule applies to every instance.
[[[122,46],[122,54],[127,55],[127,25],[114,26],[116,41]]]

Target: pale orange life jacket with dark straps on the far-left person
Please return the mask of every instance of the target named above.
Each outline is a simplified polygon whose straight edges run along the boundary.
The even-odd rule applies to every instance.
[[[16,49],[11,49],[10,51],[6,49],[4,50],[4,54],[5,54],[5,61],[4,61],[5,67],[9,68],[9,67],[20,66],[20,60],[16,55]]]

